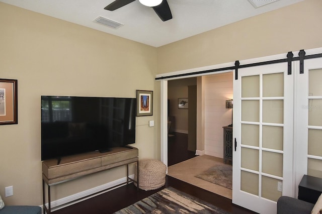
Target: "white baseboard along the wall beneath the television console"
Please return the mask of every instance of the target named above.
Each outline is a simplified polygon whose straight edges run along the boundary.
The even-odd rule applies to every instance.
[[[134,174],[130,175],[129,178],[134,179]],[[118,188],[120,186],[124,186],[126,184],[120,185],[120,184],[122,184],[124,182],[126,182],[126,177],[120,178],[118,180],[115,180],[115,181],[112,181],[112,182],[109,182],[109,183],[105,183],[105,184],[100,185],[100,186],[96,186],[96,187],[91,188],[91,189],[87,189],[87,190],[82,191],[82,192],[78,192],[78,193],[73,194],[73,195],[69,195],[69,196],[64,197],[64,198],[60,198],[58,200],[51,201],[51,203],[50,203],[51,207],[54,207],[54,208],[51,209],[51,211],[61,209],[63,207],[69,206],[71,204],[81,202],[82,200],[86,200],[86,199],[89,199],[91,197],[95,197],[97,195],[100,195],[100,194],[103,194],[105,192],[111,191],[111,190],[116,189],[116,188]],[[119,185],[119,186],[117,186],[117,185]],[[104,190],[106,190],[106,191],[104,191]],[[82,200],[79,200],[80,198],[83,198],[83,197],[86,197],[86,198],[84,198]],[[77,201],[70,203],[71,201],[74,201],[74,200],[77,200]],[[68,203],[68,204],[66,204],[66,203]],[[63,204],[66,204],[66,205],[63,205]],[[48,207],[48,203],[46,203],[46,206]],[[56,206],[59,206],[59,207],[56,207]],[[40,205],[40,207],[43,209],[43,205]]]

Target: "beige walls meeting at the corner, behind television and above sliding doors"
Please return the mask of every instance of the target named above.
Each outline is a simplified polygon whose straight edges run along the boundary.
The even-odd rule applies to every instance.
[[[134,146],[140,158],[159,158],[156,73],[322,47],[321,9],[322,1],[306,0],[152,48],[0,3],[0,78],[18,79],[19,103],[19,124],[0,127],[0,194],[13,185],[7,204],[42,203],[41,94],[135,97],[136,89],[153,90],[153,116],[137,118]],[[147,126],[149,120],[154,127]],[[64,183],[53,189],[53,199],[123,173],[116,169]]]

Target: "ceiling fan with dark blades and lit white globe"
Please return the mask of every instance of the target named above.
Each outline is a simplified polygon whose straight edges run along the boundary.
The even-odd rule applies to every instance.
[[[135,0],[115,0],[114,2],[112,2],[111,4],[106,6],[104,9],[108,10],[108,11],[114,11],[114,10],[119,9],[123,6],[126,6],[134,1]],[[171,14],[167,0],[158,0],[158,1],[139,0],[139,2],[142,5],[151,7],[162,21],[165,22],[167,20],[172,19],[172,14]],[[150,4],[151,2],[156,2],[156,3]]]

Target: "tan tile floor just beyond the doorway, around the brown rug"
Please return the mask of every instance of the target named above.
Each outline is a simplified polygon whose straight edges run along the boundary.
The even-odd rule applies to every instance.
[[[216,164],[224,164],[223,159],[209,155],[197,156],[169,166],[168,175],[231,199],[231,189],[195,177]]]

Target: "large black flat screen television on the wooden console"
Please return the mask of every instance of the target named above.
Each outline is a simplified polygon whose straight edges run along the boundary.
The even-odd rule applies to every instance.
[[[41,96],[41,160],[135,143],[136,98]]]

